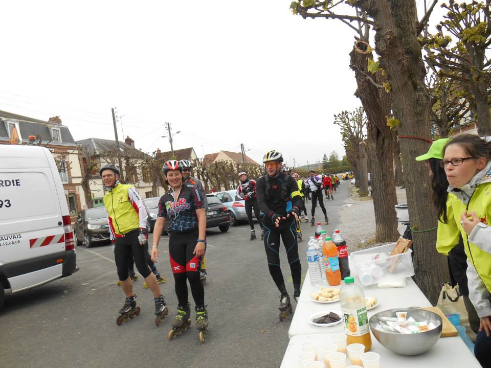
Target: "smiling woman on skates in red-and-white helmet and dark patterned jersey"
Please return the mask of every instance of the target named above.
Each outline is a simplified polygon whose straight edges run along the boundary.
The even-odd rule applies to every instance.
[[[178,306],[168,337],[174,338],[191,323],[187,280],[195,303],[199,340],[204,342],[208,328],[208,312],[205,306],[205,289],[199,277],[199,263],[205,254],[206,214],[203,198],[196,187],[184,183],[183,167],[178,161],[165,162],[163,170],[170,189],[159,202],[159,215],[153,227],[151,258],[156,262],[159,257],[159,240],[165,218],[169,215],[169,258]]]

